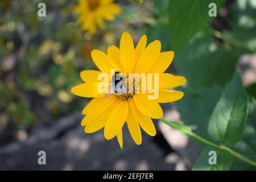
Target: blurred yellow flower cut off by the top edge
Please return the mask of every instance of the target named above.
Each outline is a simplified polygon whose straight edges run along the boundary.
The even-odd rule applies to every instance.
[[[95,34],[97,27],[105,27],[104,20],[113,21],[114,15],[120,11],[120,7],[113,0],[79,0],[75,8],[75,13],[80,14],[77,23],[91,34]]]

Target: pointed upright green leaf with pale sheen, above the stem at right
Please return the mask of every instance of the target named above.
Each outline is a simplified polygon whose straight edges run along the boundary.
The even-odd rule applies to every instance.
[[[239,73],[226,86],[209,120],[208,132],[214,140],[236,144],[242,137],[248,115],[248,98]]]

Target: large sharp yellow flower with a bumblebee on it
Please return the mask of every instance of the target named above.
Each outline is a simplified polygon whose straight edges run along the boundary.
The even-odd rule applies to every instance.
[[[117,137],[122,148],[122,127],[126,122],[134,142],[141,144],[141,128],[148,135],[156,134],[151,118],[163,117],[159,103],[173,102],[183,97],[183,92],[171,90],[171,88],[183,85],[186,81],[185,78],[164,73],[174,58],[174,52],[160,52],[159,40],[148,44],[147,47],[146,43],[147,36],[143,35],[134,48],[133,39],[129,33],[123,32],[120,48],[110,46],[107,54],[98,50],[92,51],[92,59],[100,71],[82,71],[80,76],[85,83],[71,89],[71,92],[77,96],[93,98],[82,110],[85,117],[82,119],[81,125],[85,126],[85,133],[94,133],[104,128],[105,138],[109,140]],[[106,86],[110,86],[113,79],[113,72],[111,73],[110,69],[113,68],[117,71],[114,75],[116,73],[125,76],[129,73],[146,73],[148,75],[154,73],[159,78],[159,85],[156,85],[158,86],[156,90],[159,93],[158,98],[150,99],[148,97],[152,96],[150,90],[146,90],[146,93],[140,92],[142,81],[135,82],[134,80],[126,81],[127,88],[130,86],[135,88],[135,83],[137,83],[139,92],[134,92],[134,90],[128,94],[114,92],[106,97],[106,93],[99,92],[99,88],[101,88],[99,85],[102,81],[98,80],[98,76],[106,73],[110,77],[110,81],[105,83]],[[154,79],[156,80],[156,78]]]

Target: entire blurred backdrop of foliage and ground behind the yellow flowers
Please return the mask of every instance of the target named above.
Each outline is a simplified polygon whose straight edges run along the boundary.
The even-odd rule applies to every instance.
[[[46,17],[38,16],[40,2],[46,3]],[[80,126],[90,100],[70,89],[82,82],[80,71],[96,69],[90,51],[119,46],[123,31],[135,44],[146,34],[148,42],[162,42],[162,51],[175,51],[167,72],[188,82],[177,88],[185,92],[183,100],[163,105],[164,118],[196,126],[207,136],[209,115],[236,71],[255,103],[256,1],[216,0],[216,18],[209,18],[203,0],[206,7],[191,7],[191,0],[114,2],[121,14],[92,35],[76,23],[77,1],[0,1],[0,169],[191,169],[201,144],[158,121],[156,137],[143,133],[141,146],[125,126],[123,150],[115,139],[106,141],[102,130],[85,134]],[[251,113],[256,128],[256,112]],[[256,157],[256,143],[249,146],[248,155]],[[46,165],[38,164],[40,150],[46,151]]]

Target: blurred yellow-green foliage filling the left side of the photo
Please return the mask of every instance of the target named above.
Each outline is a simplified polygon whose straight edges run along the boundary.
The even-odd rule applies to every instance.
[[[19,129],[79,107],[69,89],[80,81],[80,65],[93,67],[73,3],[47,1],[47,18],[37,16],[38,3],[0,2],[0,117]]]

